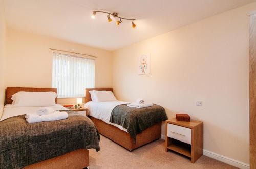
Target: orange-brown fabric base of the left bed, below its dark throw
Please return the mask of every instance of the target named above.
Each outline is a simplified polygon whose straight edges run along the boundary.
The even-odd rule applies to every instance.
[[[25,169],[82,169],[89,167],[89,151],[78,149],[64,155],[34,163],[24,167]]]

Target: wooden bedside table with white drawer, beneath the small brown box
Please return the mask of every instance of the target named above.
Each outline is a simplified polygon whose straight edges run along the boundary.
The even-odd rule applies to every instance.
[[[165,151],[172,150],[196,162],[203,155],[203,122],[178,121],[176,118],[165,121]]]

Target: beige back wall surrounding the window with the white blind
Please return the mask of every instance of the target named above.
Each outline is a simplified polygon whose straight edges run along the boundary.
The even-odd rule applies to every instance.
[[[10,28],[7,29],[6,42],[6,86],[51,87],[52,51],[49,48],[98,56],[95,60],[95,87],[112,86],[110,51]],[[76,99],[72,98],[58,99],[60,104],[75,102]]]

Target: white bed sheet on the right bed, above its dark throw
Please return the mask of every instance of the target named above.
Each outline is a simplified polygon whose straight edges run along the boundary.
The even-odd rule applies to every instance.
[[[100,120],[104,121],[105,123],[116,126],[120,130],[127,132],[127,129],[123,128],[122,126],[110,122],[110,116],[111,116],[112,110],[118,105],[127,104],[127,103],[129,103],[129,102],[124,102],[124,101],[119,101],[119,100],[106,101],[106,102],[89,101],[86,104],[84,104],[83,107],[87,108],[88,115],[90,115],[94,118],[100,119]]]

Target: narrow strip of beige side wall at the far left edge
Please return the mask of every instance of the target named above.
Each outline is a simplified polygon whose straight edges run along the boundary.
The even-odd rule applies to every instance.
[[[5,39],[6,39],[6,24],[4,1],[0,0],[0,118],[5,101],[5,81],[4,81],[4,62],[5,62]]]

